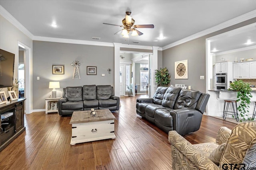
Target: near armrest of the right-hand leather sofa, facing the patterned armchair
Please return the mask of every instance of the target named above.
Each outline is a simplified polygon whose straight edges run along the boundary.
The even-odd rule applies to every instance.
[[[174,109],[170,111],[173,130],[180,135],[197,131],[202,121],[202,113],[196,109]]]

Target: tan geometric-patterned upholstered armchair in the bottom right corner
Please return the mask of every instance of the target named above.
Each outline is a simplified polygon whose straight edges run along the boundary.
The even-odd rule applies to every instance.
[[[232,131],[227,127],[220,127],[216,143],[192,145],[176,131],[170,131],[168,139],[172,147],[173,170],[230,170],[234,167],[256,167],[256,121],[240,123]],[[222,153],[218,153],[219,162],[216,162],[212,160],[212,156],[218,150]]]

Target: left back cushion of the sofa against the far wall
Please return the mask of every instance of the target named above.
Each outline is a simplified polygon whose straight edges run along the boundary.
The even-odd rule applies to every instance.
[[[66,98],[70,102],[78,102],[83,100],[83,89],[82,87],[66,87]]]

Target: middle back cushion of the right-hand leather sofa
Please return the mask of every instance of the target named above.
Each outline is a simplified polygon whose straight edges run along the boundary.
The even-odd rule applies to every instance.
[[[173,109],[174,104],[180,94],[180,90],[181,88],[179,87],[169,87],[164,94],[162,106]]]

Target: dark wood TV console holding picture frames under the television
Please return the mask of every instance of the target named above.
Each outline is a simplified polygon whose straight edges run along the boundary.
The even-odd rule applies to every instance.
[[[10,113],[10,117],[1,118],[0,124],[0,152],[7,147],[16,137],[23,131],[24,127],[24,101],[26,99],[18,99],[11,101],[10,104],[0,105],[0,115]]]

